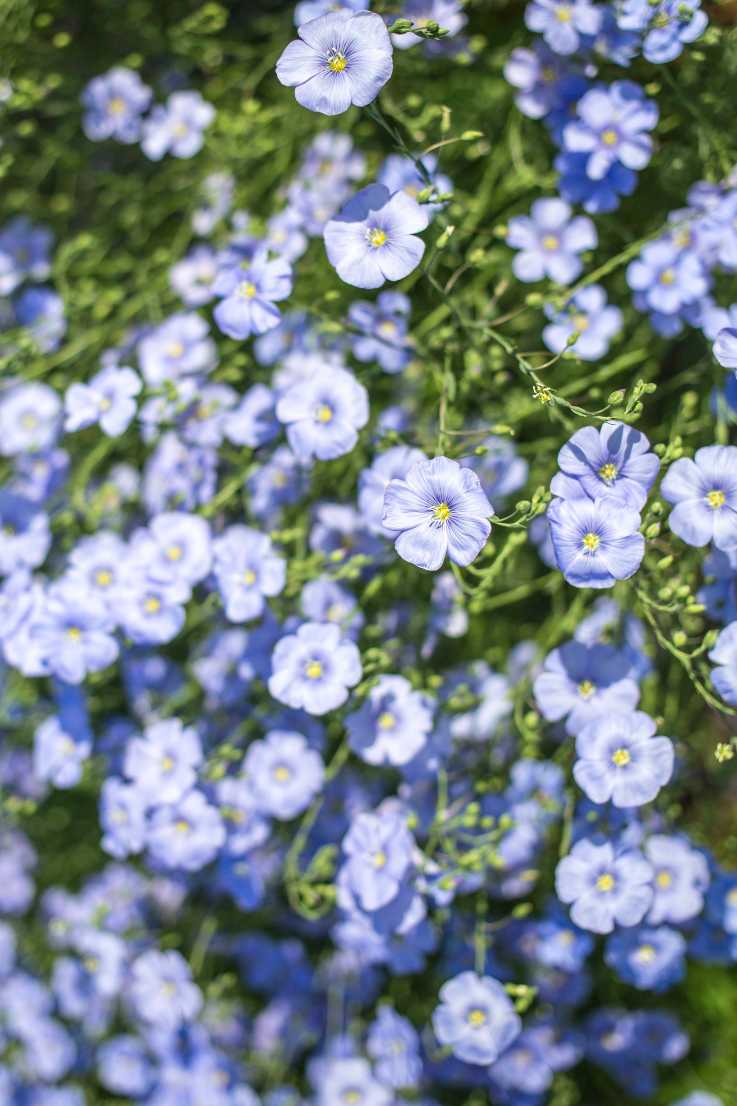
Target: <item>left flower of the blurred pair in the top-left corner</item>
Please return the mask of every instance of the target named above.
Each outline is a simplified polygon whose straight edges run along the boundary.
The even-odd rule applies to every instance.
[[[140,138],[141,115],[154,93],[135,70],[115,65],[93,77],[80,100],[86,113],[82,129],[93,142],[116,138],[128,145]]]

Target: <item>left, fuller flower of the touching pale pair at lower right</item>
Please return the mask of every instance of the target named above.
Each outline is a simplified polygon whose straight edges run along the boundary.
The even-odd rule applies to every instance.
[[[556,894],[572,904],[571,921],[593,933],[611,933],[618,926],[636,926],[653,900],[653,869],[634,848],[614,851],[607,842],[579,841],[559,860]]]

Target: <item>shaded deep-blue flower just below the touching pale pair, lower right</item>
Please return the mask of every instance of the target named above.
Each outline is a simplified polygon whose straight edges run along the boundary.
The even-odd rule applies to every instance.
[[[686,940],[670,926],[638,926],[607,941],[606,963],[639,991],[667,991],[686,974]]]

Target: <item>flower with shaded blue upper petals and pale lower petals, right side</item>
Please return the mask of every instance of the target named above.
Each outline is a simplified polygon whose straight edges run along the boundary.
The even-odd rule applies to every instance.
[[[630,668],[630,660],[611,645],[567,641],[545,658],[545,671],[533,685],[535,701],[549,722],[565,718],[566,732],[580,733],[600,714],[635,709],[640,688]]]

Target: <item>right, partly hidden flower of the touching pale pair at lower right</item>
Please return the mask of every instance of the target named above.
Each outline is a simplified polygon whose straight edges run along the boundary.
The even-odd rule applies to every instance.
[[[676,926],[702,912],[704,893],[709,885],[709,866],[704,853],[692,848],[681,837],[652,834],[644,846],[653,866],[653,905],[647,922]]]

